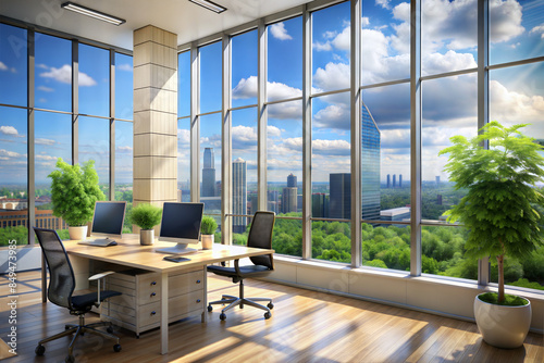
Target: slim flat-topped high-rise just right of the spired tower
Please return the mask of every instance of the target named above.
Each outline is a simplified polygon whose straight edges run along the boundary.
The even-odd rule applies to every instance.
[[[247,217],[236,216],[247,214],[247,182],[246,161],[242,158],[233,162],[233,231],[242,234],[246,231]]]

